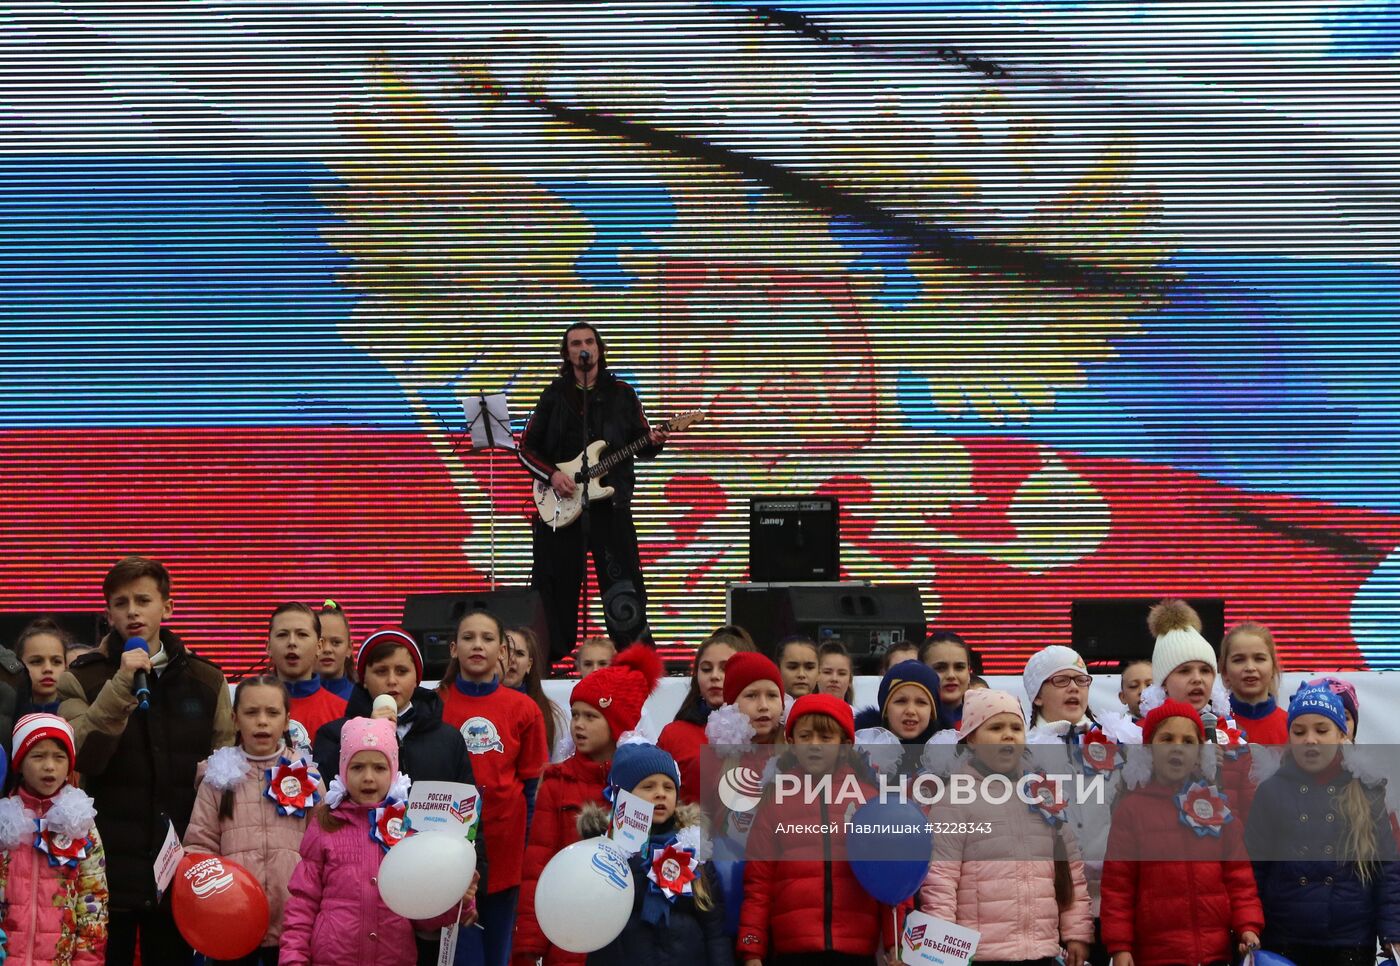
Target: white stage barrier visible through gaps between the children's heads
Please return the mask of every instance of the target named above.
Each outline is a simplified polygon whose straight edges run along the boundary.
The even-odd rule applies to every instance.
[[[1317,673],[1289,673],[1284,675],[1284,689],[1281,704],[1287,707],[1288,697],[1298,690],[1298,686]],[[1361,727],[1357,729],[1357,739],[1373,745],[1400,745],[1400,671],[1351,671],[1333,672],[1334,678],[1344,678],[1357,687],[1357,700],[1361,706]],[[1029,704],[1021,678],[1012,675],[991,675],[987,682],[997,689],[1008,690],[1021,697],[1022,704]],[[568,693],[577,680],[560,679],[546,680],[545,693],[552,701],[568,711]],[[661,734],[661,729],[676,715],[676,708],[686,696],[690,686],[689,678],[662,678],[657,692],[647,700],[641,713],[640,729],[650,738]],[[855,679],[855,707],[862,708],[875,704],[875,692],[879,689],[879,678]],[[1124,711],[1119,704],[1119,676],[1095,675],[1093,687],[1089,692],[1089,707],[1092,710]]]

